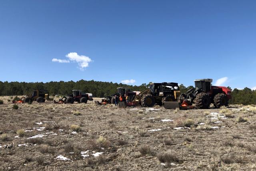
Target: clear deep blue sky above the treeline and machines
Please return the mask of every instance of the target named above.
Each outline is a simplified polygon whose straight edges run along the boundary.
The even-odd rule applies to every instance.
[[[0,81],[222,78],[252,88],[255,9],[253,0],[1,1]]]

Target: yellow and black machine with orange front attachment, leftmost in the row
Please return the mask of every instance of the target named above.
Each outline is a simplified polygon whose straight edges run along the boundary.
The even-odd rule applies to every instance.
[[[37,101],[38,103],[45,102],[45,99],[49,99],[49,91],[47,90],[34,90],[32,94],[21,97],[19,100],[13,100],[12,103],[32,103]]]

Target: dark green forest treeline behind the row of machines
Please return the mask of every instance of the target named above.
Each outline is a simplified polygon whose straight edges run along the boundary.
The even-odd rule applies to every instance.
[[[0,82],[0,95],[26,95],[32,93],[35,89],[47,89],[50,95],[68,95],[73,89],[81,89],[85,93],[92,93],[94,97],[105,97],[116,93],[117,87],[127,87],[133,91],[142,91],[146,89],[148,84],[142,85],[126,85],[112,82],[98,82],[80,80],[77,82]],[[180,85],[181,93],[185,93],[193,86]],[[232,99],[230,104],[256,104],[256,91],[245,87],[244,89],[232,90]]]

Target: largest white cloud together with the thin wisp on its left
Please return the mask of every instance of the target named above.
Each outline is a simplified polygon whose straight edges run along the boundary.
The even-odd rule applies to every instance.
[[[60,59],[53,58],[52,62],[60,62],[60,63],[69,63],[70,61],[77,62],[80,70],[84,70],[84,68],[89,66],[89,62],[92,62],[92,60],[88,56],[78,55],[76,52],[71,52],[67,54],[66,57],[69,60],[60,60]]]

